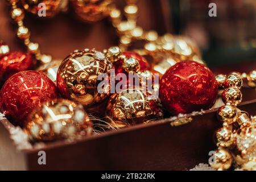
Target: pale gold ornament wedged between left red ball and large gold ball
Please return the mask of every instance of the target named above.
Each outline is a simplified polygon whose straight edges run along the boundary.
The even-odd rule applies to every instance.
[[[46,76],[48,76],[53,82],[56,82],[57,71],[59,69],[60,63],[61,60],[53,60],[48,64],[43,64],[36,70],[44,72],[44,74],[46,74]]]

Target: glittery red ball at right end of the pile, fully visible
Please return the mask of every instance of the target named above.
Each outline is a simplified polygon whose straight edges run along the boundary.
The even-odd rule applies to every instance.
[[[181,61],[164,73],[159,97],[174,115],[209,109],[217,98],[218,84],[209,68],[195,61]]]

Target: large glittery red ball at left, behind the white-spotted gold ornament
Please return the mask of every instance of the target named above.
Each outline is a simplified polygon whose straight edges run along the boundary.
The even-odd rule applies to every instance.
[[[55,84],[43,72],[22,71],[6,80],[0,92],[0,110],[23,126],[24,119],[42,102],[57,97]]]

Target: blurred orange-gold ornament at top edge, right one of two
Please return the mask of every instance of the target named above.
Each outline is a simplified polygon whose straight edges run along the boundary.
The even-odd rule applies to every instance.
[[[113,0],[72,0],[77,16],[85,22],[97,22],[109,15]]]

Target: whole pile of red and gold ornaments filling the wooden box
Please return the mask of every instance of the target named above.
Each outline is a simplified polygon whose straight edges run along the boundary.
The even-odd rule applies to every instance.
[[[92,134],[93,122],[88,117],[92,108],[104,113],[105,122],[118,129],[156,121],[166,113],[209,109],[218,92],[217,81],[205,65],[181,61],[164,73],[160,85],[154,85],[159,98],[148,97],[150,90],[142,89],[141,77],[152,79],[155,71],[141,55],[118,47],[104,52],[74,51],[49,67],[56,71],[51,78],[49,69],[36,69],[29,53],[10,52],[5,43],[0,44],[0,111],[34,141]],[[127,81],[129,86],[122,92],[110,93],[109,86],[98,92],[98,76],[109,76],[112,68],[115,75],[137,73],[139,85],[130,87]]]

